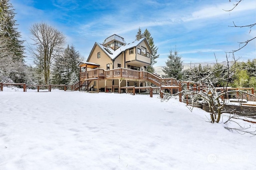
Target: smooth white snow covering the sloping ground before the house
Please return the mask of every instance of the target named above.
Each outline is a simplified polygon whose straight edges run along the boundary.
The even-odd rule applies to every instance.
[[[35,91],[0,92],[1,170],[256,167],[256,137],[209,123],[209,113],[178,99]]]

